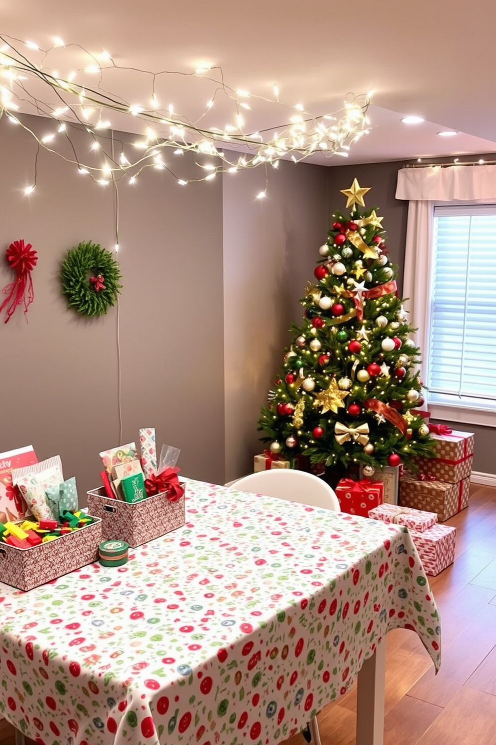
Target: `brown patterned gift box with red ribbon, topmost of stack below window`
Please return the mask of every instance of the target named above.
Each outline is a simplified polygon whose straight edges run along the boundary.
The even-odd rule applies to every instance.
[[[452,431],[451,434],[432,434],[436,444],[434,458],[416,458],[419,470],[439,481],[457,484],[470,476],[474,460],[474,434]]]

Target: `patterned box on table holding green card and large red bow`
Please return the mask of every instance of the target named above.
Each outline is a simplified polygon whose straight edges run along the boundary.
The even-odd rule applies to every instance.
[[[181,484],[186,490],[185,482]],[[88,492],[88,507],[102,520],[102,540],[126,541],[131,548],[160,538],[185,522],[184,494],[175,502],[167,499],[167,492],[161,492],[131,503],[110,499],[100,486]]]

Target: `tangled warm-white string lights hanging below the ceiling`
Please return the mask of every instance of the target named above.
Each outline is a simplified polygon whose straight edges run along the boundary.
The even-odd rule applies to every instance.
[[[141,96],[136,102],[112,93],[109,85],[110,77],[115,83],[116,75],[129,71],[140,76]],[[188,118],[174,104],[159,99],[159,83],[178,76],[200,77],[209,89],[196,118]],[[26,194],[36,187],[40,148],[62,157],[79,174],[102,186],[121,180],[135,184],[146,168],[167,171],[179,186],[187,186],[192,181],[212,180],[222,172],[232,174],[260,165],[267,173],[268,166],[277,168],[281,158],[300,162],[315,153],[347,157],[352,143],[369,131],[371,95],[348,94],[338,112],[315,115],[303,104],[284,104],[275,85],[271,97],[233,89],[225,83],[222,69],[207,63],[190,72],[149,72],[119,66],[109,52],[91,54],[80,45],[66,45],[59,37],[42,49],[32,40],[0,34],[0,118],[5,115],[37,144],[34,180],[25,188]],[[257,104],[280,126],[251,131],[251,112]],[[222,127],[207,127],[207,115],[217,109],[224,117],[227,112],[227,121]],[[47,132],[33,131],[25,112],[51,120]],[[134,120],[129,130],[142,134],[131,145],[118,142],[116,149],[113,131],[123,129],[123,116]],[[112,118],[117,118],[115,124]],[[79,136],[74,138],[76,132],[88,138],[86,148],[80,145]],[[181,174],[178,156],[184,153],[193,153],[194,178]],[[257,198],[265,195],[266,188]]]

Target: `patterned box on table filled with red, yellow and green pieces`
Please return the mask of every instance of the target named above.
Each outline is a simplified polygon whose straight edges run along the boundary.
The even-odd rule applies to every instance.
[[[19,521],[19,524],[24,521]],[[31,590],[86,564],[98,561],[102,540],[102,521],[67,533],[65,536],[31,548],[0,545],[0,582],[19,590]]]

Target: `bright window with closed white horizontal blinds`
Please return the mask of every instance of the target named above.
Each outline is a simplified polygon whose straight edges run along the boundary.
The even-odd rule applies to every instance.
[[[434,207],[432,259],[429,406],[496,412],[496,205]]]

